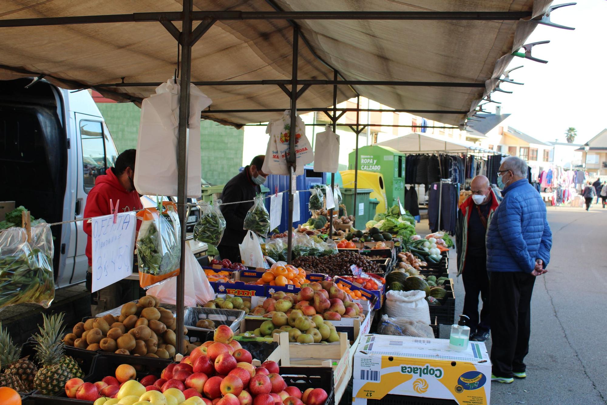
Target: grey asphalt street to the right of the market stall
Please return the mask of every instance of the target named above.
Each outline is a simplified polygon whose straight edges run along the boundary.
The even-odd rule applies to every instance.
[[[552,258],[549,272],[535,283],[527,378],[493,383],[491,403],[607,404],[607,209],[549,207],[548,221]],[[427,232],[427,222],[418,232]],[[461,279],[455,287],[457,315]],[[448,336],[443,326],[441,338]]]

